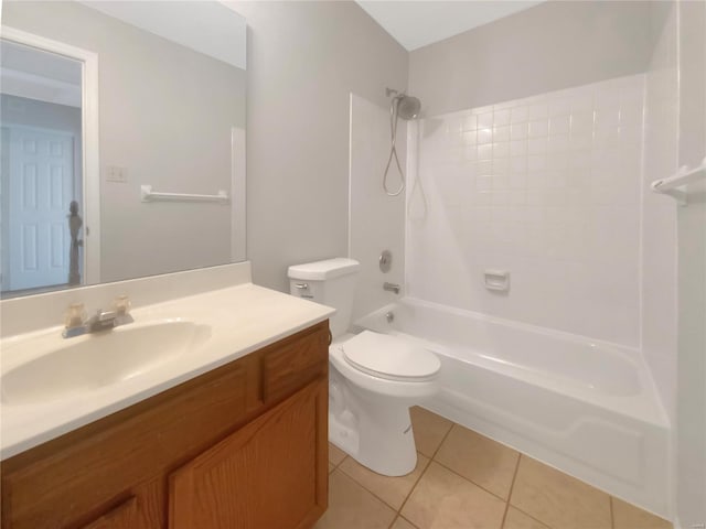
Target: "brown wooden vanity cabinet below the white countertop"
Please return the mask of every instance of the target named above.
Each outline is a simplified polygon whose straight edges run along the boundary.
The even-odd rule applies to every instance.
[[[322,322],[3,461],[2,528],[311,527],[328,345]]]

